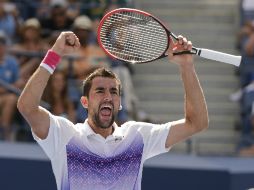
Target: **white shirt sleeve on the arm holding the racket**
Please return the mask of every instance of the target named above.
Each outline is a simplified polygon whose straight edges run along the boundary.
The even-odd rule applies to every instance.
[[[137,130],[141,133],[144,142],[143,158],[148,159],[170,150],[166,148],[166,140],[170,131],[171,122],[165,124],[151,124],[136,122]]]

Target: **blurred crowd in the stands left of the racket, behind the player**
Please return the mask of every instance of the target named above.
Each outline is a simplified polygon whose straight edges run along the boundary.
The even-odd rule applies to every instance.
[[[129,0],[2,0],[0,2],[0,139],[32,141],[28,124],[16,109],[18,95],[61,31],[71,30],[81,48],[66,56],[54,72],[43,95],[42,106],[72,122],[84,122],[86,110],[79,103],[82,80],[98,67],[109,67],[123,82],[118,123],[147,121],[138,109],[132,83],[133,69],[107,57],[97,44],[100,19]]]

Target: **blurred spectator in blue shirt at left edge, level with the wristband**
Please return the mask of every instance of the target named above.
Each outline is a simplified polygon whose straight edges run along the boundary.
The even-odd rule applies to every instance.
[[[0,80],[11,87],[20,87],[19,65],[17,60],[8,55],[7,39],[0,31]],[[0,86],[0,136],[5,140],[12,139],[12,118],[16,112],[17,96]]]

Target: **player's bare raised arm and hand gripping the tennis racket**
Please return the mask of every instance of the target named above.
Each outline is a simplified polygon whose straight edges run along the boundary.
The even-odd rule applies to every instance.
[[[174,42],[171,41],[171,44]],[[169,48],[169,61],[178,64],[185,91],[185,118],[172,122],[166,147],[183,141],[208,127],[208,111],[203,90],[200,86],[193,56],[190,54],[173,56],[175,51],[191,50],[192,43],[179,36],[179,41]]]

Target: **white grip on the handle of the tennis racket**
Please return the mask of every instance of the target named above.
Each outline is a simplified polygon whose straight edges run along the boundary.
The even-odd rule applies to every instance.
[[[197,55],[206,59],[211,59],[211,60],[220,61],[223,63],[232,64],[237,67],[239,67],[241,63],[241,59],[242,59],[241,56],[235,56],[235,55],[222,53],[222,52],[214,51],[210,49],[203,49],[203,48],[198,49]]]

